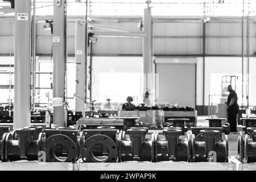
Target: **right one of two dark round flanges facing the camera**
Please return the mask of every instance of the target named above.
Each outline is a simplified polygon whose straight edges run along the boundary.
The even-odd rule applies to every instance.
[[[92,153],[93,146],[96,144],[102,144],[106,147],[109,151],[108,158],[104,160],[96,159],[96,157]],[[119,147],[120,148],[120,147]],[[108,136],[106,135],[93,135],[86,139],[84,144],[81,147],[81,158],[83,162],[116,162],[118,158],[118,148],[117,144]]]

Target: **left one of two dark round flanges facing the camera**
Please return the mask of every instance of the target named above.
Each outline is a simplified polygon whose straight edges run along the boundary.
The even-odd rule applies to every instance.
[[[56,144],[62,144],[67,148],[68,157],[64,161],[58,159],[54,154],[54,148]],[[76,143],[74,143],[73,140],[66,135],[52,135],[44,141],[41,149],[46,152],[47,162],[75,162],[77,159]]]

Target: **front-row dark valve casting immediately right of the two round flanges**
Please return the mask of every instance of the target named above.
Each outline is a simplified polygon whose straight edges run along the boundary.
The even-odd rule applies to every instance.
[[[154,162],[154,139],[144,129],[129,129],[119,144],[119,161]]]

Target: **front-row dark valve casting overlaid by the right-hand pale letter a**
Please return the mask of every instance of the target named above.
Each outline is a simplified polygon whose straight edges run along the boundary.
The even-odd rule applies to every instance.
[[[217,130],[201,130],[196,138],[192,135],[192,162],[208,161],[228,162],[228,135],[222,139]]]

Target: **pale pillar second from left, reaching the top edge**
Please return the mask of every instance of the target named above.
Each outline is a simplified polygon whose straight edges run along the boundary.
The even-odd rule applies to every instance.
[[[59,98],[60,105],[53,107],[53,124],[65,126],[65,64],[66,64],[66,1],[53,1],[53,97]]]

